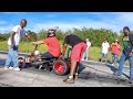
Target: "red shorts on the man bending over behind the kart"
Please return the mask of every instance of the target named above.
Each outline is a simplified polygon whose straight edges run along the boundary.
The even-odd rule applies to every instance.
[[[86,46],[88,45],[84,42],[76,44],[71,52],[71,62],[80,62],[86,50]]]

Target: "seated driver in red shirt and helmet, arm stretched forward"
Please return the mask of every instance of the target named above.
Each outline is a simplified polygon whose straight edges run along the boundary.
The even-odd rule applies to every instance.
[[[48,52],[42,54],[42,57],[52,58],[52,57],[60,56],[60,53],[61,53],[60,43],[55,36],[55,30],[53,29],[50,29],[48,31],[48,37],[45,40],[32,42],[32,44],[34,45],[47,44],[48,45]]]

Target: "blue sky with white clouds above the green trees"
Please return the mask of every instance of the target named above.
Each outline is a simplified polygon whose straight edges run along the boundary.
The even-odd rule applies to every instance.
[[[117,33],[123,26],[133,30],[133,12],[0,12],[0,33],[10,32],[21,19],[28,21],[25,30],[33,32],[54,26],[61,31],[83,26]]]

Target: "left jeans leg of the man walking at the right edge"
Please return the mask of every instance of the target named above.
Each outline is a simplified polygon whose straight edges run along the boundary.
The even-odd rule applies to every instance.
[[[120,63],[119,63],[119,69],[117,69],[117,75],[122,75],[122,70],[123,70],[123,66],[124,63],[126,61],[126,56],[124,54],[122,54],[121,58],[120,58]]]

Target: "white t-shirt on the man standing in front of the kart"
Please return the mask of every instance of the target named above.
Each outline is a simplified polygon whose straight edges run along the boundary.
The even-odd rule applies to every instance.
[[[16,32],[14,34],[14,45],[19,45],[21,38],[23,35],[28,35],[27,34],[27,31],[24,29],[21,29],[20,25],[16,25],[13,29],[12,29],[13,32]],[[9,37],[8,40],[8,45],[11,45],[11,38]]]

